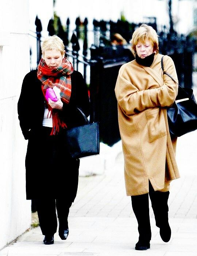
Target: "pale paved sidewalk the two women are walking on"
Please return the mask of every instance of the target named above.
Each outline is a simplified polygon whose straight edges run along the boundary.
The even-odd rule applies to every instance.
[[[151,248],[135,251],[137,222],[131,197],[124,187],[124,163],[121,141],[109,151],[105,172],[80,176],[77,197],[69,214],[69,236],[62,241],[58,232],[53,245],[44,245],[40,227],[26,231],[0,251],[0,256],[197,256],[197,131],[177,142],[177,163],[181,178],[171,182],[168,243],[161,240],[150,204]],[[101,154],[101,156],[102,156]],[[96,157],[90,157],[98,169]],[[114,160],[114,161],[113,161]],[[102,167],[103,168],[103,167]]]

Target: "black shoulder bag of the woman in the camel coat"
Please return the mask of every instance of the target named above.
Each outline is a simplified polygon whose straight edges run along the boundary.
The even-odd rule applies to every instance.
[[[164,71],[163,57],[161,66],[163,74],[168,75],[177,83],[170,74]],[[171,137],[180,137],[197,129],[197,104],[191,88],[182,88],[178,84],[178,95],[173,105],[167,108],[167,119]]]

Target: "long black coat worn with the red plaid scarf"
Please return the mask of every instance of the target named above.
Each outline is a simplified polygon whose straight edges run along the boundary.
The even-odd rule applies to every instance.
[[[69,104],[63,103],[58,110],[67,127],[83,124],[77,111],[81,108],[89,116],[89,96],[83,76],[74,71],[71,74],[72,90]],[[23,80],[18,101],[20,127],[28,139],[26,154],[26,197],[65,198],[74,202],[78,187],[79,159],[73,159],[67,152],[63,131],[50,135],[52,128],[43,128],[45,98],[37,70],[29,72]]]

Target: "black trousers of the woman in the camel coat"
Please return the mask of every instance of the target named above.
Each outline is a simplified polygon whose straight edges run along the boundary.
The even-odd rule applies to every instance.
[[[166,222],[168,222],[169,208],[167,201],[169,198],[169,191],[154,191],[151,182],[149,181],[149,196],[155,216],[156,226],[160,227],[162,225],[166,225]],[[151,226],[148,193],[139,196],[131,196],[131,202],[135,217],[138,221],[139,240],[144,243],[150,242]]]

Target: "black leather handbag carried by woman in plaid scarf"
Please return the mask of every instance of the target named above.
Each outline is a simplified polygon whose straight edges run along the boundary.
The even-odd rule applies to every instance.
[[[85,125],[66,130],[66,143],[73,158],[83,158],[100,153],[99,123],[89,123],[88,118],[80,108]]]

